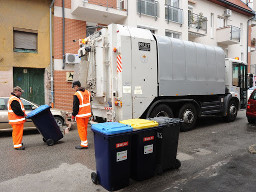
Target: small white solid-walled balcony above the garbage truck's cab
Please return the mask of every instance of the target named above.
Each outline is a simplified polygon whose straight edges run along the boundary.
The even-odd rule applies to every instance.
[[[240,28],[232,25],[217,28],[216,41],[223,45],[240,43]]]

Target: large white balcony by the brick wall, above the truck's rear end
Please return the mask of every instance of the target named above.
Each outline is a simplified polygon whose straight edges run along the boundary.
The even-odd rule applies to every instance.
[[[128,0],[71,0],[71,13],[90,22],[117,23],[127,17],[127,3]]]

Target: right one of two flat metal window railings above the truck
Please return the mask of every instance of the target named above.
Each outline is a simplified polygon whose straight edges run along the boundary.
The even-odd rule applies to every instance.
[[[164,6],[165,6],[165,19],[168,20],[168,23],[169,21],[174,21],[181,24],[183,9],[170,6],[168,4],[165,4]]]

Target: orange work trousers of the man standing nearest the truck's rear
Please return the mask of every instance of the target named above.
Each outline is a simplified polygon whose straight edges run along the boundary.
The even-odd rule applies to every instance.
[[[89,118],[76,118],[77,131],[81,140],[80,146],[87,147],[87,126],[88,126]]]

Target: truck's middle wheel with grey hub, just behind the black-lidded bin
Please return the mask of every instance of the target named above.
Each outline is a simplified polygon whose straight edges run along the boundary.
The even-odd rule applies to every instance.
[[[191,130],[197,119],[197,113],[194,105],[191,103],[185,103],[179,109],[178,118],[184,120],[184,123],[180,124],[181,131]]]

